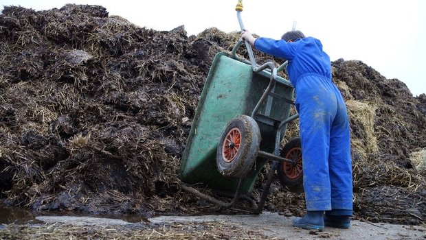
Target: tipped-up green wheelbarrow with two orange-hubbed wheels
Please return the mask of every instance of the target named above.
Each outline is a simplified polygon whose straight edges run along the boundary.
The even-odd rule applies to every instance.
[[[243,43],[250,61],[236,56]],[[276,171],[290,191],[302,191],[300,139],[292,139],[280,152],[287,123],[298,118],[298,114],[290,116],[294,88],[277,75],[286,66],[287,62],[278,68],[273,62],[259,66],[251,46],[243,40],[232,53],[216,54],[181,160],[183,189],[219,206],[256,214],[262,212]],[[237,205],[251,194],[267,161],[272,167],[260,200],[252,201],[251,208]],[[200,185],[233,198],[224,202],[197,190]]]

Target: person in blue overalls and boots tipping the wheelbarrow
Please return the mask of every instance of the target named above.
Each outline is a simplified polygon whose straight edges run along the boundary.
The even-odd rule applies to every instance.
[[[242,33],[256,49],[288,60],[287,73],[295,88],[300,116],[306,215],[293,226],[323,230],[349,228],[352,215],[350,127],[344,99],[331,81],[330,57],[320,40],[300,31],[280,40]]]

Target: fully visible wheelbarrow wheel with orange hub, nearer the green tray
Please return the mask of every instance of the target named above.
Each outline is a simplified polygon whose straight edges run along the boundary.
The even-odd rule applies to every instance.
[[[256,161],[260,145],[258,123],[240,115],[227,124],[219,140],[216,162],[223,176],[243,178]]]

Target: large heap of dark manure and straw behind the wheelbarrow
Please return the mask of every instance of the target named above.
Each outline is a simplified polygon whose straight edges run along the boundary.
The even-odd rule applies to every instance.
[[[215,28],[188,37],[182,26],[137,27],[97,5],[6,6],[0,197],[87,213],[217,210],[181,191],[177,171],[212,58],[238,38]],[[255,53],[258,62],[269,59]],[[355,216],[425,223],[425,170],[417,166],[425,157],[426,95],[413,97],[360,61],[333,62],[333,80],[350,115]],[[297,121],[289,130],[297,136]],[[271,192],[267,210],[302,214],[302,194],[277,182]]]

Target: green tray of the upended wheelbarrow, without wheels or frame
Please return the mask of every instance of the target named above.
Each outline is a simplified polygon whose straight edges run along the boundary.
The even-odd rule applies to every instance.
[[[232,194],[236,191],[239,178],[225,177],[217,169],[218,141],[228,121],[238,115],[251,116],[270,79],[269,71],[255,73],[250,64],[232,58],[228,53],[216,54],[203,87],[181,159],[179,177],[183,182],[202,183],[210,189],[223,193]],[[273,94],[293,99],[291,83],[282,77],[276,80]],[[260,107],[260,115],[277,122],[287,119],[291,104],[281,101],[280,97],[268,98]],[[258,122],[258,125],[262,137],[260,149],[272,152],[276,128],[262,122]],[[281,136],[285,135],[285,130],[284,126]],[[242,194],[251,193],[263,165],[265,160],[256,160],[254,167],[245,177]]]

